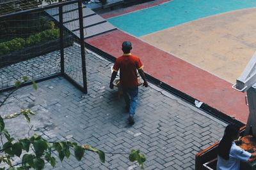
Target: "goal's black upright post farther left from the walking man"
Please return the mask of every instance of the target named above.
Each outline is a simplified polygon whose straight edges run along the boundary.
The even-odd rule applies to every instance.
[[[60,0],[61,2],[61,0]],[[63,41],[63,6],[59,7],[59,17],[60,17],[60,70],[61,74],[64,73],[64,41]]]

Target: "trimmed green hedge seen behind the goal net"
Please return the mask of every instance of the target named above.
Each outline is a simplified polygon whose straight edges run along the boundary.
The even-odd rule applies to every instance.
[[[47,29],[45,31],[33,34],[28,38],[14,38],[11,41],[0,43],[0,55],[5,55],[23,48],[38,45],[47,41],[60,38],[58,29]]]

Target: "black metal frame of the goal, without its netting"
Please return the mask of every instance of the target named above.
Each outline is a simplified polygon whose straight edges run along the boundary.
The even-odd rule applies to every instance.
[[[33,13],[33,12],[48,10],[48,9],[51,9],[51,8],[59,8],[60,22],[58,24],[59,24],[59,29],[60,29],[60,55],[61,55],[60,66],[61,66],[61,72],[60,73],[54,73],[54,74],[51,74],[49,76],[44,76],[42,78],[36,78],[34,80],[36,83],[38,83],[40,81],[49,80],[51,78],[56,78],[58,76],[63,76],[63,78],[65,78],[70,83],[72,83],[72,85],[74,85],[77,89],[81,90],[85,94],[88,93],[87,81],[86,81],[86,61],[85,61],[85,50],[84,50],[85,46],[84,46],[83,5],[82,5],[82,1],[83,0],[65,1],[65,2],[60,2],[60,3],[56,3],[56,4],[49,4],[47,6],[40,6],[38,8],[33,8],[33,9],[29,9],[29,10],[23,10],[23,11],[8,13],[6,15],[1,15],[0,16],[0,20],[3,20],[4,18],[8,18],[8,17],[12,17],[12,16],[15,16],[15,15],[20,15],[20,14],[24,14],[24,13]],[[70,76],[68,76],[68,74],[65,73],[65,64],[64,64],[65,60],[64,60],[64,45],[63,45],[64,44],[64,42],[63,42],[63,30],[64,30],[64,27],[63,27],[63,6],[68,5],[68,4],[74,4],[74,3],[77,3],[78,10],[79,10],[80,38],[78,38],[76,36],[76,37],[74,37],[74,39],[81,46],[83,86],[79,85],[79,83],[77,83],[74,79],[72,79]],[[3,3],[1,3],[1,4],[3,4]],[[74,34],[72,34],[72,36],[74,36]],[[20,85],[20,87],[24,87],[26,85],[31,85],[31,84],[32,84],[31,81],[26,81],[26,82],[22,83]],[[8,90],[13,90],[15,88],[16,88],[15,85],[12,85],[12,86],[9,86],[9,87],[3,87],[3,88],[0,89],[0,93],[1,92],[6,92]]]

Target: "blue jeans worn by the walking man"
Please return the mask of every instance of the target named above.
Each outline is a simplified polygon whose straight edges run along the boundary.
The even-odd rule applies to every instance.
[[[133,117],[138,101],[138,86],[137,87],[122,87],[126,106],[129,107],[129,113]]]

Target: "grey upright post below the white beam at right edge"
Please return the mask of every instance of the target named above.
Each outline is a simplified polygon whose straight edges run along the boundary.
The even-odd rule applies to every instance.
[[[250,87],[247,90],[248,104],[249,104],[249,117],[246,124],[246,129],[244,131],[244,136],[252,133],[256,136],[256,87]]]

